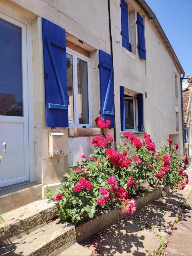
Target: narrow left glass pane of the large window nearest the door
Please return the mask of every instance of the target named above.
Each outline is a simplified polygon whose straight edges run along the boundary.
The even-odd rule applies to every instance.
[[[74,98],[73,98],[73,59],[67,53],[67,95],[69,124],[74,124]]]

